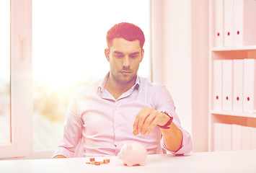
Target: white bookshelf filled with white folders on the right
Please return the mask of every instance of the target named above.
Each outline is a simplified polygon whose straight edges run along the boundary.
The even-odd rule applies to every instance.
[[[248,22],[252,22],[256,20],[256,12],[252,12],[251,9],[256,8],[256,1],[255,0],[210,0],[209,1],[209,33],[210,33],[210,48],[209,48],[209,113],[208,113],[208,151],[219,151],[219,150],[234,150],[234,140],[244,140],[244,131],[240,134],[239,136],[242,136],[239,139],[234,139],[234,131],[232,134],[232,130],[234,130],[232,125],[240,125],[241,129],[242,128],[247,128],[250,130],[250,135],[247,136],[247,142],[249,141],[252,143],[250,145],[250,148],[252,149],[255,147],[255,141],[256,141],[256,109],[252,111],[244,111],[243,108],[240,111],[234,110],[234,101],[231,101],[231,107],[229,107],[229,110],[226,109],[226,105],[224,105],[225,101],[221,102],[221,104],[217,104],[216,106],[216,99],[223,99],[223,97],[226,97],[224,93],[224,85],[226,86],[226,81],[224,78],[224,74],[228,73],[229,68],[224,68],[224,60],[228,60],[231,62],[231,70],[232,72],[229,73],[232,76],[232,85],[231,85],[231,93],[232,93],[232,99],[239,99],[239,97],[234,96],[234,60],[242,60],[244,62],[247,61],[247,59],[252,59],[256,61],[256,39],[255,40],[250,40],[248,41],[249,37],[248,35],[251,35],[252,38],[256,37],[256,32],[250,32],[250,30],[247,29],[247,27],[255,27],[256,25],[252,26],[247,26]],[[226,7],[227,4],[229,4],[229,7]],[[243,4],[242,7],[238,6]],[[239,9],[240,8],[240,9]],[[226,11],[231,9],[232,10],[232,21],[230,22],[225,22],[226,19]],[[239,10],[237,10],[239,9]],[[250,17],[247,17],[247,13],[250,12]],[[243,32],[237,32],[237,16],[239,14],[242,15],[242,21],[240,21],[240,26],[239,28],[242,28]],[[247,17],[247,18],[246,18]],[[245,21],[245,18],[247,21]],[[249,20],[249,21],[248,21]],[[241,24],[242,23],[242,24]],[[231,37],[232,37],[232,45],[226,45],[227,42],[230,43],[230,40],[226,40],[226,35],[225,31],[226,26],[225,25],[231,25],[229,28],[231,28]],[[255,29],[256,30],[256,29]],[[232,32],[234,35],[232,35]],[[246,33],[245,33],[246,32]],[[242,43],[241,40],[237,40],[237,35],[238,33],[241,35],[242,34]],[[237,35],[236,35],[237,34]],[[225,37],[224,37],[225,35]],[[240,36],[239,35],[239,36]],[[222,36],[222,37],[221,37]],[[229,38],[227,38],[229,39]],[[239,45],[239,46],[237,46]],[[221,95],[218,97],[216,96],[216,82],[218,78],[216,78],[217,74],[216,71],[218,71],[219,68],[216,68],[216,61],[222,61],[221,62],[221,72],[219,74],[222,75],[221,84]],[[244,63],[243,63],[244,64]],[[243,65],[244,67],[244,65]],[[256,67],[255,67],[256,68]],[[244,68],[243,68],[244,69]],[[256,74],[252,74],[252,76],[256,76]],[[254,78],[256,79],[256,77]],[[236,78],[237,80],[237,78]],[[243,76],[243,81],[244,82],[244,76]],[[256,82],[254,82],[256,84]],[[243,85],[244,86],[244,85]],[[243,87],[244,89],[244,87]],[[254,91],[256,92],[256,87],[254,85]],[[243,94],[243,93],[242,93]],[[256,95],[256,94],[254,94]],[[226,97],[228,98],[228,97]],[[240,98],[241,99],[241,98]],[[254,98],[256,102],[256,98]],[[244,100],[242,99],[242,102]],[[243,103],[244,104],[244,103]],[[256,104],[254,104],[256,105]],[[243,107],[244,105],[242,105]],[[224,109],[225,107],[225,109]],[[236,107],[235,107],[236,108]],[[224,131],[221,132],[221,130],[224,130],[224,128],[221,128],[221,130],[216,130],[216,124],[223,124],[223,125],[229,125],[229,131],[228,133],[224,133]],[[237,126],[235,126],[236,128]],[[240,127],[239,127],[240,128]],[[248,131],[249,131],[248,130]],[[218,132],[218,133],[217,133]],[[249,134],[249,133],[248,133]],[[226,137],[231,136],[230,140],[226,144]],[[233,136],[233,138],[232,138]],[[218,139],[217,139],[218,138]],[[222,140],[222,141],[221,141]],[[230,142],[230,143],[229,143]],[[219,146],[216,146],[216,143],[219,143]],[[233,144],[232,144],[233,143]],[[235,143],[237,146],[237,142]],[[228,147],[226,147],[227,145]],[[233,145],[233,146],[232,146]],[[219,147],[219,148],[218,148]],[[222,149],[221,149],[222,147]],[[243,147],[244,144],[239,143],[240,149],[244,149]],[[218,148],[218,149],[216,149]]]

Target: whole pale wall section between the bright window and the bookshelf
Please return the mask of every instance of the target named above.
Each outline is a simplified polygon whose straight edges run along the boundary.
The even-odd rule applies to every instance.
[[[153,81],[165,84],[172,94],[182,127],[193,137],[193,151],[207,151],[208,1],[151,2]],[[199,15],[204,16],[198,15],[197,8],[203,8]],[[195,23],[195,17],[205,20]]]

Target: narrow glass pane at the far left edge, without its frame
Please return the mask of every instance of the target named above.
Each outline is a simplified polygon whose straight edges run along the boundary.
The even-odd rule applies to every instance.
[[[11,143],[10,2],[0,1],[0,144]]]

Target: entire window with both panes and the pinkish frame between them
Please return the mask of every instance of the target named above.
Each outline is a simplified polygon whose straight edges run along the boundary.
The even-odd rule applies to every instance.
[[[138,74],[151,78],[149,21],[149,0],[0,1],[0,158],[51,156],[71,94],[108,72],[112,25],[144,30]]]

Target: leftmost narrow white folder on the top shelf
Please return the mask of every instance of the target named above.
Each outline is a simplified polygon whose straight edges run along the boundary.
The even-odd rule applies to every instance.
[[[223,0],[213,1],[213,18],[214,18],[214,36],[213,39],[215,41],[216,47],[223,47],[224,40],[224,27],[223,27]]]

